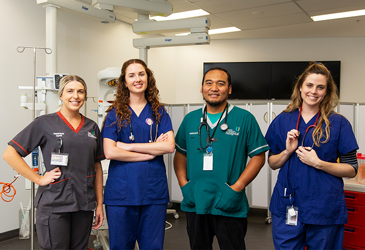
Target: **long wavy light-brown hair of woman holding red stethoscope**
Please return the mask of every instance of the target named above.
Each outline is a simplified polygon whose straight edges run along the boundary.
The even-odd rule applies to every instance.
[[[320,104],[321,118],[319,119],[318,126],[312,133],[313,141],[315,145],[319,146],[320,143],[326,143],[330,137],[330,122],[328,116],[334,113],[334,108],[338,105],[338,88],[333,82],[331,72],[320,62],[310,62],[309,66],[304,70],[301,76],[297,79],[293,87],[293,93],[291,94],[291,103],[286,107],[283,112],[292,112],[300,108],[303,104],[300,88],[302,87],[305,79],[309,74],[322,74],[327,79],[327,93]],[[325,131],[322,129],[323,122],[326,123]],[[321,141],[322,139],[322,141]]]

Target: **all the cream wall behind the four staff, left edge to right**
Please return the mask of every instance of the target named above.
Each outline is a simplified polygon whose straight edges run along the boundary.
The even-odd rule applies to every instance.
[[[0,123],[0,155],[21,129],[32,120],[32,112],[19,107],[17,86],[33,84],[33,51],[16,52],[17,46],[45,46],[45,9],[35,0],[2,1],[0,8],[0,91],[3,108]],[[131,25],[116,21],[101,24],[58,11],[58,72],[78,74],[88,84],[88,96],[97,95],[96,73],[138,58],[133,48]],[[340,60],[341,101],[365,102],[365,38],[212,40],[210,45],[152,48],[149,67],[154,70],[162,102],[201,103],[203,62]],[[36,76],[45,72],[45,54],[37,52]],[[234,91],[234,89],[233,89]],[[29,91],[30,95],[31,92]],[[90,104],[89,104],[90,103]],[[92,101],[87,116],[96,117]],[[11,182],[16,174],[0,159],[0,182]],[[28,204],[30,191],[21,177],[15,183],[12,202],[0,200],[0,233],[18,228],[19,202]]]

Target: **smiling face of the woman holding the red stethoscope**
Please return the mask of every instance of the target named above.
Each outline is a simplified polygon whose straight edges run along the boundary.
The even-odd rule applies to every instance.
[[[308,74],[300,91],[303,106],[319,109],[327,94],[327,78],[323,74]]]

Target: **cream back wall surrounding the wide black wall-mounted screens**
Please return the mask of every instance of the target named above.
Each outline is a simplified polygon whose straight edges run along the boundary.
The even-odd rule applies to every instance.
[[[171,91],[166,102],[183,104],[202,102],[203,62],[340,60],[341,101],[365,102],[363,44],[365,37],[211,40],[210,45],[150,49],[149,66],[159,88]]]

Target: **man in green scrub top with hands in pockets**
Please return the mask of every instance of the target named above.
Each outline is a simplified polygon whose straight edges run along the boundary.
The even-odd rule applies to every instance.
[[[221,249],[246,249],[245,188],[264,165],[269,145],[255,117],[228,104],[231,91],[226,69],[205,72],[206,105],[188,113],[176,134],[174,168],[191,249],[211,249],[214,236]]]

